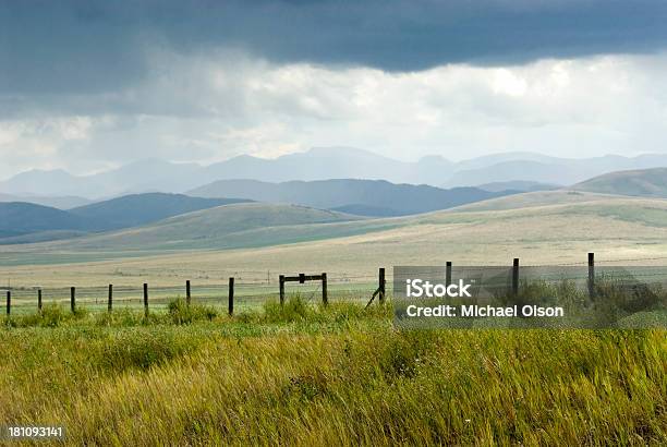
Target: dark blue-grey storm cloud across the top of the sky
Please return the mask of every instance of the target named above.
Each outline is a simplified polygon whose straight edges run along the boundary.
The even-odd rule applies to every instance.
[[[161,49],[386,71],[651,52],[665,23],[663,0],[0,0],[0,93],[114,92],[159,75]]]

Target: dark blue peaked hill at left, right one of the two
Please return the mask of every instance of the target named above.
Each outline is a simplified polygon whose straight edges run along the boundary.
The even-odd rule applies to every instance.
[[[131,194],[73,208],[70,213],[98,222],[99,230],[137,227],[168,217],[248,202],[243,198],[203,198],[183,194]]]

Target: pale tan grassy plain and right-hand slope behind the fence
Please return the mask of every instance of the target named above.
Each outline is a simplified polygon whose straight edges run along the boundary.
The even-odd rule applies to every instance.
[[[345,231],[363,228],[345,235],[338,226]],[[538,192],[404,218],[253,231],[271,234],[267,243],[274,241],[274,245],[137,252],[112,243],[84,250],[76,241],[1,246],[0,281],[17,287],[141,287],[146,281],[155,287],[182,287],[191,279],[206,287],[225,283],[230,276],[238,283],[270,283],[279,274],[327,271],[331,278],[355,282],[372,280],[380,266],[446,261],[511,265],[512,257],[520,257],[522,265],[585,263],[586,252],[595,252],[602,264],[645,258],[639,262],[667,264],[667,201],[585,193]],[[313,240],[280,244],[286,232]],[[227,238],[232,240],[234,234]],[[328,239],[317,240],[325,235]],[[206,246],[207,241],[197,243]]]

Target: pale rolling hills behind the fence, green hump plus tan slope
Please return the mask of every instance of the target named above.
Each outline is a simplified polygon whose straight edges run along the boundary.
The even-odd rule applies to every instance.
[[[381,219],[290,205],[226,205],[113,233],[0,246],[0,264],[117,259],[109,263],[114,271],[125,262],[118,261],[121,257],[150,255],[156,257],[126,262],[137,263],[132,268],[156,270],[163,265],[206,270],[223,264],[354,271],[447,259],[486,265],[507,262],[508,256],[579,262],[587,251],[613,253],[614,258],[654,257],[667,252],[665,241],[667,201],[554,191]],[[31,267],[25,274],[34,271]]]

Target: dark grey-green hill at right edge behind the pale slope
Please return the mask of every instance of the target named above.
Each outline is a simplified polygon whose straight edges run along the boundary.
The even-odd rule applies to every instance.
[[[611,172],[572,188],[605,194],[667,197],[667,168]]]

